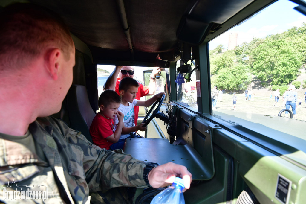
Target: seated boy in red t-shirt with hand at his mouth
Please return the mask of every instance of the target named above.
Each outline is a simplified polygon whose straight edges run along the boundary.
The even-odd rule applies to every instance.
[[[105,90],[99,97],[100,112],[93,119],[89,132],[95,145],[105,149],[123,149],[124,140],[120,140],[121,130],[124,127],[124,115],[118,111],[121,98],[113,90]],[[117,115],[119,123],[114,130],[114,117]]]

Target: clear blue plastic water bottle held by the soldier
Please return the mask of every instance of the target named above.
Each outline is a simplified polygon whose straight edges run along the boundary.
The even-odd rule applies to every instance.
[[[150,204],[185,204],[183,179],[176,177],[174,183],[157,194]]]

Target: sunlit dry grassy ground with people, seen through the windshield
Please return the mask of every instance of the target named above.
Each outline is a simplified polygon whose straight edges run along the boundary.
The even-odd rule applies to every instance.
[[[223,94],[221,102],[217,102],[216,104],[216,109],[221,112],[222,110],[231,110],[231,107],[233,106],[232,97],[233,94]],[[251,112],[264,115],[278,115],[279,111],[285,108],[282,107],[282,96],[279,98],[277,107],[274,106],[274,96],[272,96],[271,100],[270,97],[255,96],[254,99],[250,101],[245,100],[244,94],[237,94],[237,97],[238,100],[235,111],[239,112]],[[306,108],[304,100],[301,105],[297,105],[296,111],[296,119],[306,121]],[[282,116],[285,116],[285,112],[282,113]]]

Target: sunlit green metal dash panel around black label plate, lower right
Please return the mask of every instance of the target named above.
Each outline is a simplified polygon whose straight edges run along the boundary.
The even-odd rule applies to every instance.
[[[251,142],[239,142],[236,150],[236,159],[240,162],[239,173],[260,203],[282,203],[275,197],[278,175],[291,182],[288,203],[305,202],[304,169]]]

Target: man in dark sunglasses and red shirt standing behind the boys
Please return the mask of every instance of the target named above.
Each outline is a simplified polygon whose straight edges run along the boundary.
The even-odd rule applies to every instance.
[[[155,89],[156,89],[156,74],[158,74],[161,71],[162,68],[155,67],[152,71],[152,74],[150,75],[150,82],[148,86],[144,86],[142,84],[139,84],[138,87],[138,93],[136,96],[137,100],[140,100],[140,97],[142,96],[151,96],[154,95]],[[124,77],[131,77],[134,78],[134,67],[132,66],[116,66],[114,71],[110,74],[110,76],[107,78],[105,84],[104,84],[104,90],[111,89],[114,90],[119,94],[119,83]],[[119,76],[119,78],[117,77]],[[135,111],[135,125],[137,125],[138,120],[138,112],[139,107],[134,107]]]

